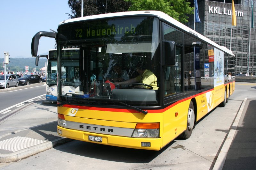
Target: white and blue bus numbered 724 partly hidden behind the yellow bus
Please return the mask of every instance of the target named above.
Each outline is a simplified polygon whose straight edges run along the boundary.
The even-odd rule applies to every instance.
[[[62,56],[79,56],[78,48],[63,48]],[[48,55],[37,55],[36,65],[38,65],[39,58],[46,57],[46,100],[57,101],[57,49],[50,49]],[[66,72],[61,72],[61,80],[65,80]]]

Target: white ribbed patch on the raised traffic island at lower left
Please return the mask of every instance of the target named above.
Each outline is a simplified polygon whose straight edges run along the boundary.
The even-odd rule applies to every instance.
[[[0,149],[16,152],[37,144],[42,144],[46,141],[33,139],[29,137],[13,137],[0,142]]]

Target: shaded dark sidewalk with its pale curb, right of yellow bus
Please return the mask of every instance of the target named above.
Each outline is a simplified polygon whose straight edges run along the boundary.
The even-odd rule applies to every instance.
[[[213,170],[255,169],[256,99],[245,98]]]

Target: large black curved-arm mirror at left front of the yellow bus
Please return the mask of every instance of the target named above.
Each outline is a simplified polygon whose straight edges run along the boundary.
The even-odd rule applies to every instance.
[[[31,55],[33,57],[37,56],[39,40],[42,36],[55,38],[55,40],[57,42],[57,34],[56,33],[46,32],[46,31],[40,31],[40,32],[36,33],[34,35],[34,37],[32,38],[32,42],[31,42]]]

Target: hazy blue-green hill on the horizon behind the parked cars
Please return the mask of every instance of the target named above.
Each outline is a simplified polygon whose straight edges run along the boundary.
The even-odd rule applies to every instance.
[[[0,71],[4,71],[3,62],[4,58],[0,58]],[[38,66],[36,66],[36,58],[10,58],[10,63],[6,64],[6,71],[25,71],[25,66],[29,67],[29,71],[36,68],[39,71],[42,67],[45,67],[46,58],[40,58]]]

